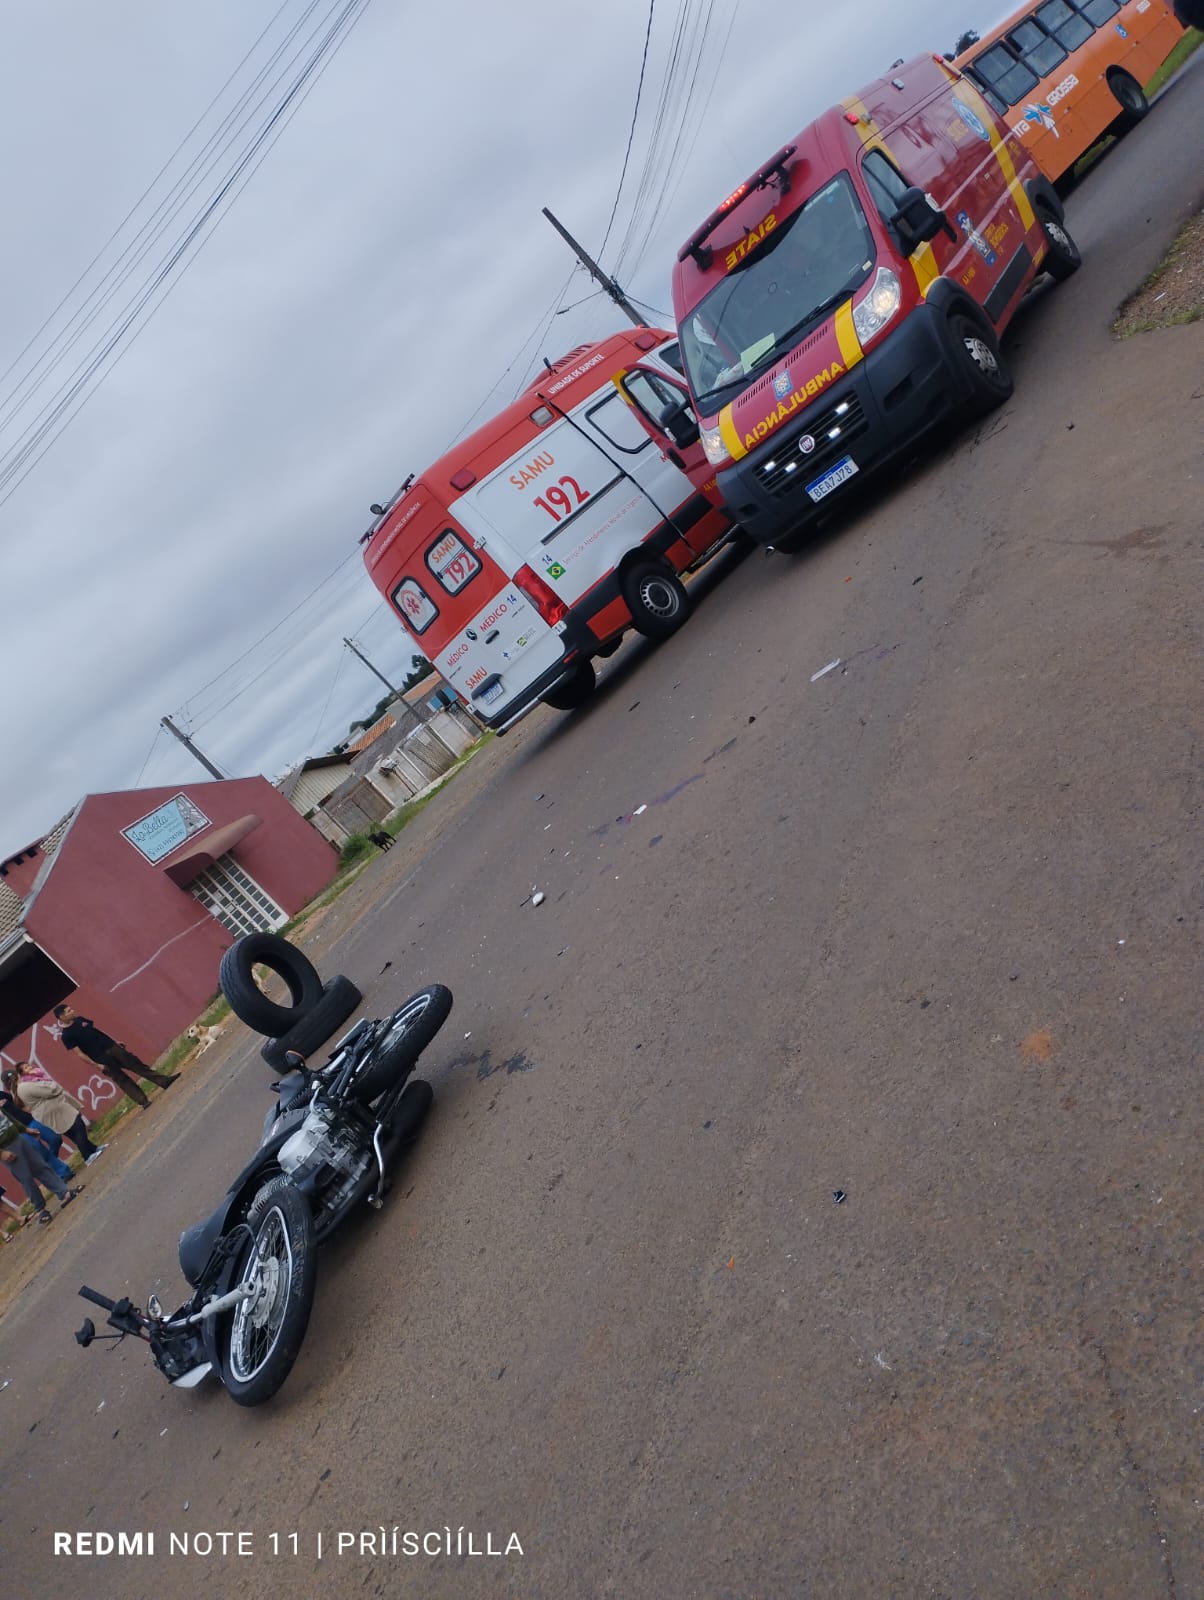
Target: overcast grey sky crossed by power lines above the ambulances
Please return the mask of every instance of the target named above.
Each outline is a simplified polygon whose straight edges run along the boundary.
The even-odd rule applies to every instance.
[[[656,0],[620,189],[648,0],[6,8],[0,854],[197,779],[163,715],[229,774],[328,749],[384,693],[344,634],[407,672],[370,502],[623,323],[541,206],[660,322],[772,149],[1007,10]]]

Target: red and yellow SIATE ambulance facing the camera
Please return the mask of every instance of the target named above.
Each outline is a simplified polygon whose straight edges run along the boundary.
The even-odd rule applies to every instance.
[[[849,483],[1001,405],[999,333],[1042,269],[1078,266],[1052,184],[940,56],[825,112],[677,256],[680,354],[733,520],[797,544]]]

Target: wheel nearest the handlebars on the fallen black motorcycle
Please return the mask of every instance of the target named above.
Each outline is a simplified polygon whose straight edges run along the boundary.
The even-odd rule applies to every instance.
[[[309,1326],[317,1246],[309,1206],[287,1178],[264,1184],[247,1213],[251,1243],[237,1282],[255,1293],[231,1312],[223,1381],[239,1405],[271,1400],[293,1370]]]

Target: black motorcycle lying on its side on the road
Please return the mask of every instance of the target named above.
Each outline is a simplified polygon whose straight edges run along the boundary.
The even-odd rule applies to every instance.
[[[317,1070],[290,1054],[253,1160],[179,1238],[192,1296],[168,1317],[154,1294],[141,1310],[82,1288],[115,1333],[98,1334],[88,1317],[78,1344],[144,1339],[179,1389],[216,1373],[239,1405],[271,1400],[309,1325],[314,1246],[357,1206],[381,1210],[389,1166],[431,1109],[431,1085],[410,1075],[450,1011],[451,992],[432,984],[392,1016],[357,1022]]]

